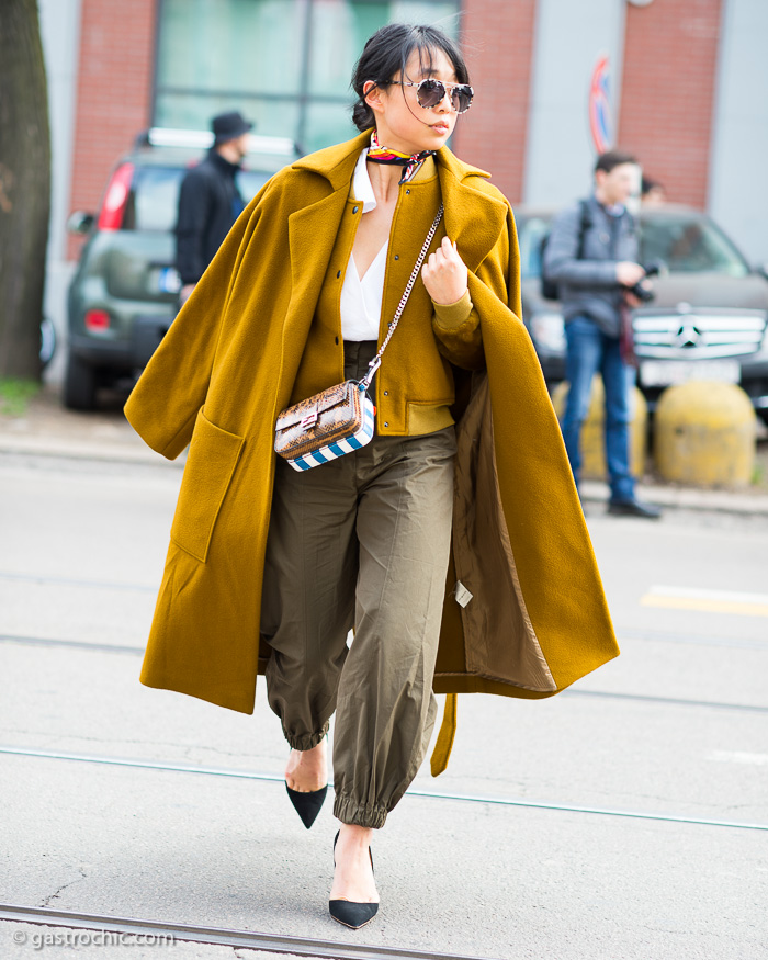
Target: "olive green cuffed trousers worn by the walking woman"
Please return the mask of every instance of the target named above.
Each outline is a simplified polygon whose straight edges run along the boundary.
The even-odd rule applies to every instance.
[[[346,343],[345,376],[361,376],[374,353],[375,343]],[[342,823],[383,826],[429,746],[454,453],[449,427],[376,436],[303,473],[278,460],[261,613],[267,696],[298,750],[320,742],[336,712]]]

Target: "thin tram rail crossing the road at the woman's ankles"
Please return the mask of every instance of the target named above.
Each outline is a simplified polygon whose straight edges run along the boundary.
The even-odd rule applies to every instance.
[[[26,747],[0,745],[0,754],[31,757],[48,760],[71,760],[81,764],[97,764],[108,767],[133,767],[143,770],[161,770],[173,773],[194,773],[206,777],[227,777],[238,780],[259,780],[272,783],[283,783],[282,775],[260,773],[253,770],[236,770],[219,767],[195,767],[190,764],[168,764],[162,760],[138,760],[122,757],[99,757],[89,754],[70,754],[59,750],[36,750]],[[448,800],[456,803],[477,803],[495,806],[516,806],[531,810],[552,810],[561,813],[579,813],[596,816],[615,816],[630,820],[651,820],[663,823],[680,823],[692,826],[729,827],[731,829],[768,831],[768,823],[744,823],[741,821],[711,820],[705,817],[685,816],[676,813],[656,813],[652,811],[614,810],[603,806],[581,806],[572,803],[555,803],[546,800],[523,800],[511,797],[494,797],[490,794],[448,793],[439,790],[420,790],[410,787],[409,797],[429,800]]]

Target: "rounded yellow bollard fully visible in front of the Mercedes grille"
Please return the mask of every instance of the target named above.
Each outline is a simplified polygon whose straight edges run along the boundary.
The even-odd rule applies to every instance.
[[[732,383],[689,381],[664,391],[654,423],[656,468],[665,479],[745,487],[757,443],[749,397]]]

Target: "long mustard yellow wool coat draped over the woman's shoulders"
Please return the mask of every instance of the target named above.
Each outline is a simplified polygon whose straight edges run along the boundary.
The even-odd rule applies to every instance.
[[[150,687],[253,711],[269,656],[259,613],[274,422],[292,397],[365,142],[363,134],[304,158],[253,199],[126,404],[131,423],[165,456],[191,441],[142,671]],[[453,550],[433,687],[549,697],[619,651],[520,319],[511,208],[486,173],[447,148],[437,166],[444,228],[470,269],[487,376],[475,375],[456,427]],[[417,249],[421,241],[414,237]],[[398,341],[407,357],[405,316],[392,350]],[[340,355],[329,361],[331,383],[341,379]]]

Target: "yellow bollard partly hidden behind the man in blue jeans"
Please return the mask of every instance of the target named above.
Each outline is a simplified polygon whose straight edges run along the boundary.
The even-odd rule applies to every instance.
[[[568,382],[563,381],[552,392],[552,404],[562,421],[565,402],[568,396]],[[645,437],[648,422],[648,408],[645,397],[634,388],[632,393],[632,422],[630,423],[630,470],[635,477],[642,476],[645,468]],[[596,374],[589,394],[589,411],[581,427],[581,477],[584,479],[607,479],[606,470],[606,392],[602,377]]]

